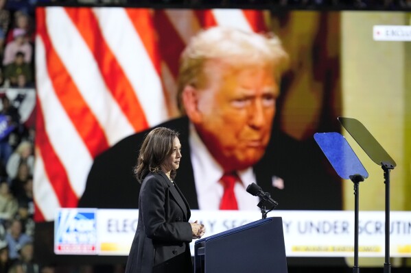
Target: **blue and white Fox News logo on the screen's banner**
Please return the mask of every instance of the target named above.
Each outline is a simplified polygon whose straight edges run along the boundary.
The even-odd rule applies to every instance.
[[[96,211],[60,209],[54,226],[56,254],[96,254]]]

